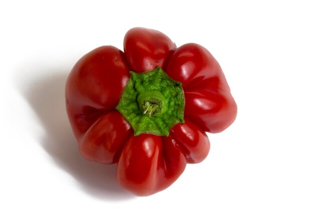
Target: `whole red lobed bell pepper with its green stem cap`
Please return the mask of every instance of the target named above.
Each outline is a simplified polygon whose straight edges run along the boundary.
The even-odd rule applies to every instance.
[[[66,108],[80,153],[117,163],[117,183],[139,196],[169,187],[209,153],[206,132],[236,118],[220,65],[204,47],[176,47],[165,34],[133,28],[124,52],[84,55],[66,83]]]

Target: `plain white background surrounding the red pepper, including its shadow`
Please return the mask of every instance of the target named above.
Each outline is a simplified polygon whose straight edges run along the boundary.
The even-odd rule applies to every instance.
[[[9,3],[10,2],[10,3]],[[2,1],[1,208],[313,208],[312,1]],[[90,50],[123,49],[133,27],[195,42],[221,64],[238,104],[206,160],[136,197],[115,166],[83,159],[64,85]]]

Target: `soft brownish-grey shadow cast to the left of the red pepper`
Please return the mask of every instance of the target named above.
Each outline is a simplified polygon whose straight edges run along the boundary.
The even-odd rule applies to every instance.
[[[25,85],[20,86],[21,93],[37,113],[46,130],[40,144],[58,166],[78,181],[86,193],[105,200],[134,197],[117,185],[116,164],[103,165],[88,161],[80,155],[65,108],[64,89],[67,75],[59,71],[59,74],[38,78],[28,85],[29,89],[25,89]]]

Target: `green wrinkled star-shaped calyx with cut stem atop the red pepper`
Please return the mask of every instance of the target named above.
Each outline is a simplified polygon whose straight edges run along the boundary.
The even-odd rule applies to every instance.
[[[184,123],[185,98],[180,82],[160,67],[130,74],[116,109],[132,126],[134,136],[168,136],[174,125]]]

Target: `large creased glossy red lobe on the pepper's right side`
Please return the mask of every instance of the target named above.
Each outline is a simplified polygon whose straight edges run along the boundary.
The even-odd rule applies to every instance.
[[[207,49],[193,43],[179,47],[170,57],[166,72],[182,83],[185,117],[211,133],[233,123],[237,105],[220,65]]]

